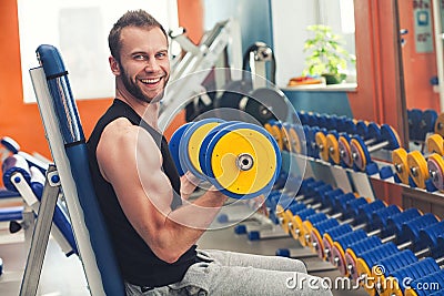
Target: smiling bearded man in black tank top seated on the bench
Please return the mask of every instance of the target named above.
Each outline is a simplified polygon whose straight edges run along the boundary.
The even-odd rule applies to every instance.
[[[115,99],[88,152],[127,295],[294,295],[285,285],[294,273],[315,278],[296,259],[196,249],[228,197],[211,187],[189,202],[195,185],[189,172],[179,177],[159,132],[170,76],[167,33],[145,11],[129,11],[113,25],[109,47]]]

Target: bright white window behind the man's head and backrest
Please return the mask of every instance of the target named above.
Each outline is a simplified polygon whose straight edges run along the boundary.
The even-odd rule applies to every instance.
[[[36,49],[60,50],[75,99],[114,95],[109,70],[108,33],[127,10],[145,9],[165,28],[178,27],[176,1],[18,0],[24,102],[36,102],[29,69],[38,67]]]

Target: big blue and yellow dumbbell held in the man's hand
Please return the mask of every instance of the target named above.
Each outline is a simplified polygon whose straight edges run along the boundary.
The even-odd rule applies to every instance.
[[[233,198],[268,194],[282,162],[278,143],[265,129],[220,119],[182,125],[169,149],[180,174],[190,171]]]

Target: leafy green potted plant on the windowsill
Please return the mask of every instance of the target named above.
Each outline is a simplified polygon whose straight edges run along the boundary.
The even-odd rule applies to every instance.
[[[343,45],[340,34],[333,33],[329,25],[313,24],[307,30],[313,32],[304,43],[305,69],[302,74],[307,76],[324,76],[326,84],[341,83],[345,80],[345,70],[356,59]]]

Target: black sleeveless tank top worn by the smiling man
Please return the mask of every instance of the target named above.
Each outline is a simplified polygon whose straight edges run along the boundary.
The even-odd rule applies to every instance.
[[[170,155],[165,137],[143,121],[127,103],[115,99],[113,104],[99,120],[87,145],[92,183],[104,221],[110,231],[122,276],[127,282],[139,286],[159,287],[180,282],[190,265],[196,262],[195,246],[192,246],[173,264],[169,264],[155,256],[131,226],[123,214],[114,190],[99,171],[95,151],[100,136],[103,129],[118,118],[125,118],[132,124],[142,126],[151,134],[162,153],[163,172],[170,178],[174,188],[171,207],[174,210],[182,202],[178,194],[180,192],[179,174]]]

